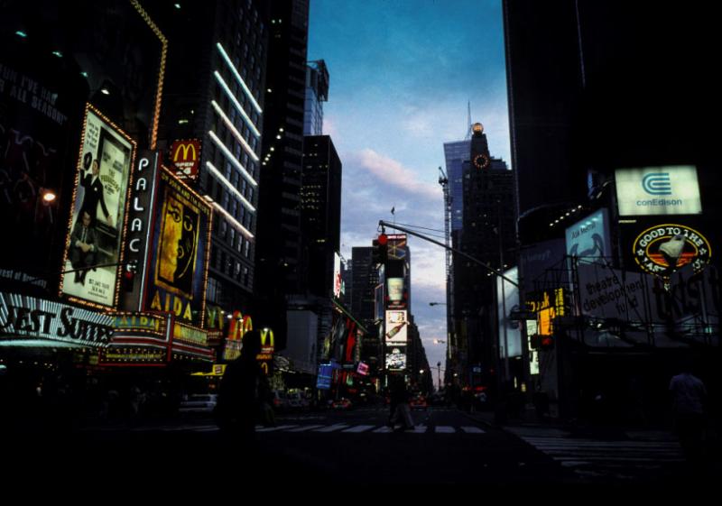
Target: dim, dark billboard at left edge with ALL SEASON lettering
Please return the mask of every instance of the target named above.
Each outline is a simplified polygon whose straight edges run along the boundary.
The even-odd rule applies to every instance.
[[[70,113],[82,113],[69,76],[43,68],[33,47],[11,41],[0,54],[0,216],[13,245],[0,248],[0,282],[11,290],[25,283],[47,289],[43,274],[59,271],[51,248],[56,233],[64,235],[58,208],[66,165],[74,162],[62,153],[79,120]]]

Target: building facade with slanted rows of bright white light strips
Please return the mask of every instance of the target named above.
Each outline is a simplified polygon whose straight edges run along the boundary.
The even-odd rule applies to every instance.
[[[199,140],[191,184],[211,202],[213,236],[208,301],[227,312],[256,313],[257,207],[264,129],[268,18],[262,2],[220,0],[160,12],[168,33],[161,145]],[[192,64],[190,64],[192,62]],[[186,153],[189,148],[185,147]],[[257,315],[257,320],[264,319]],[[258,321],[257,323],[261,323]],[[270,322],[269,322],[270,323]]]

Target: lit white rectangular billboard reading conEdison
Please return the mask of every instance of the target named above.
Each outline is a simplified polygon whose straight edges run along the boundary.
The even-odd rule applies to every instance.
[[[620,216],[699,215],[694,165],[617,169],[616,200]]]

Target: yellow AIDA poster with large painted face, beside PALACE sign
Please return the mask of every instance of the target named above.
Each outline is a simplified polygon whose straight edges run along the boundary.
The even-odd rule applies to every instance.
[[[159,172],[144,307],[203,326],[212,211],[170,170]]]

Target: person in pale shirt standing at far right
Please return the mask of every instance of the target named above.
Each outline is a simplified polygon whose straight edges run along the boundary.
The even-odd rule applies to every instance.
[[[682,372],[670,382],[672,412],[680,446],[687,461],[697,468],[704,460],[705,404],[707,389],[692,371],[694,364],[687,360]]]

